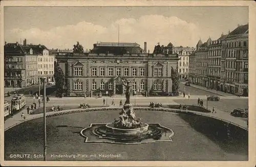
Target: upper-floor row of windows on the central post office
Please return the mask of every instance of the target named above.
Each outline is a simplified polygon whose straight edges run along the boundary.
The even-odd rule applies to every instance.
[[[130,68],[123,68],[123,76],[129,76],[129,70]],[[139,76],[144,77],[145,76],[145,68],[139,69]],[[116,67],[116,76],[121,75],[121,68]],[[82,76],[82,67],[75,67],[74,68],[74,76]],[[92,67],[92,76],[98,76],[97,74],[97,67]],[[99,76],[105,76],[105,67],[99,67]],[[114,76],[114,68],[109,67],[108,68],[108,76]],[[132,76],[137,77],[138,76],[138,69],[132,68]],[[161,77],[162,76],[162,68],[154,68],[154,77]]]

